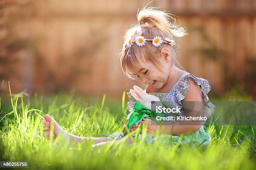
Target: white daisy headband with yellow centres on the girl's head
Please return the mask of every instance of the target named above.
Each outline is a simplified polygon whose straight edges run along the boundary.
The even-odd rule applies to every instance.
[[[133,45],[133,43],[136,43],[137,46],[144,46],[146,41],[151,41],[153,46],[155,46],[155,47],[159,47],[161,45],[161,43],[167,43],[171,46],[175,45],[175,42],[173,40],[171,40],[170,38],[167,38],[167,37],[165,37],[164,40],[162,40],[162,37],[160,37],[160,36],[156,36],[153,39],[146,39],[142,36],[137,36],[135,38],[135,41],[131,41],[131,39],[130,39],[127,42],[125,42],[123,44],[123,46],[131,47],[131,45]]]

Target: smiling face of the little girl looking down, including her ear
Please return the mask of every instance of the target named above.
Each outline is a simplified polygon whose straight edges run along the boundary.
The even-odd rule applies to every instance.
[[[168,51],[169,52],[169,51]],[[154,63],[144,61],[144,66],[134,66],[130,71],[136,77],[138,81],[143,84],[152,85],[156,89],[161,89],[167,82],[170,69],[170,54],[161,55],[159,58],[159,70]]]

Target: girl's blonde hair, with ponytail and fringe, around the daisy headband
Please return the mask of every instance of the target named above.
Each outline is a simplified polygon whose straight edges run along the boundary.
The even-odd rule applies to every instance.
[[[184,28],[175,25],[176,19],[172,17],[172,14],[157,9],[156,7],[143,7],[137,14],[138,24],[126,30],[124,42],[134,41],[137,36],[143,36],[146,39],[160,36],[172,40],[173,37],[182,37],[187,34]],[[166,43],[162,43],[159,47],[154,47],[152,43],[146,43],[144,46],[136,46],[136,44],[131,47],[123,46],[119,53],[123,73],[130,79],[134,79],[129,69],[138,65],[146,67],[143,61],[154,63],[160,70],[157,56],[163,48],[168,48],[171,51],[173,62],[176,61],[174,49]]]

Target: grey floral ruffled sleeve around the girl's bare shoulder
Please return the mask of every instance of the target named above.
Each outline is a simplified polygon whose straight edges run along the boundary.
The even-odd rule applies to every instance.
[[[202,95],[205,103],[205,117],[209,118],[215,109],[215,106],[210,102],[207,94],[209,93],[211,89],[211,84],[210,81],[206,79],[202,79],[199,77],[195,77],[193,74],[184,74],[177,84],[174,85],[173,87],[173,92],[172,94],[176,96],[177,101],[179,102],[179,105],[182,106],[182,100],[187,96],[187,91],[189,89],[189,77],[195,80],[195,82],[200,85],[201,90],[202,90]]]

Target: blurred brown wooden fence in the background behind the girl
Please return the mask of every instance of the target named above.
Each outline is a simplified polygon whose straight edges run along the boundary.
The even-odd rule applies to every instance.
[[[123,75],[117,53],[143,3],[0,1],[0,76],[14,91],[74,88],[120,95],[134,84],[142,86]],[[213,91],[235,84],[244,88],[255,79],[250,79],[256,60],[255,0],[157,0],[151,6],[177,15],[177,23],[187,28],[189,35],[176,39],[178,60],[186,71],[210,80]]]

